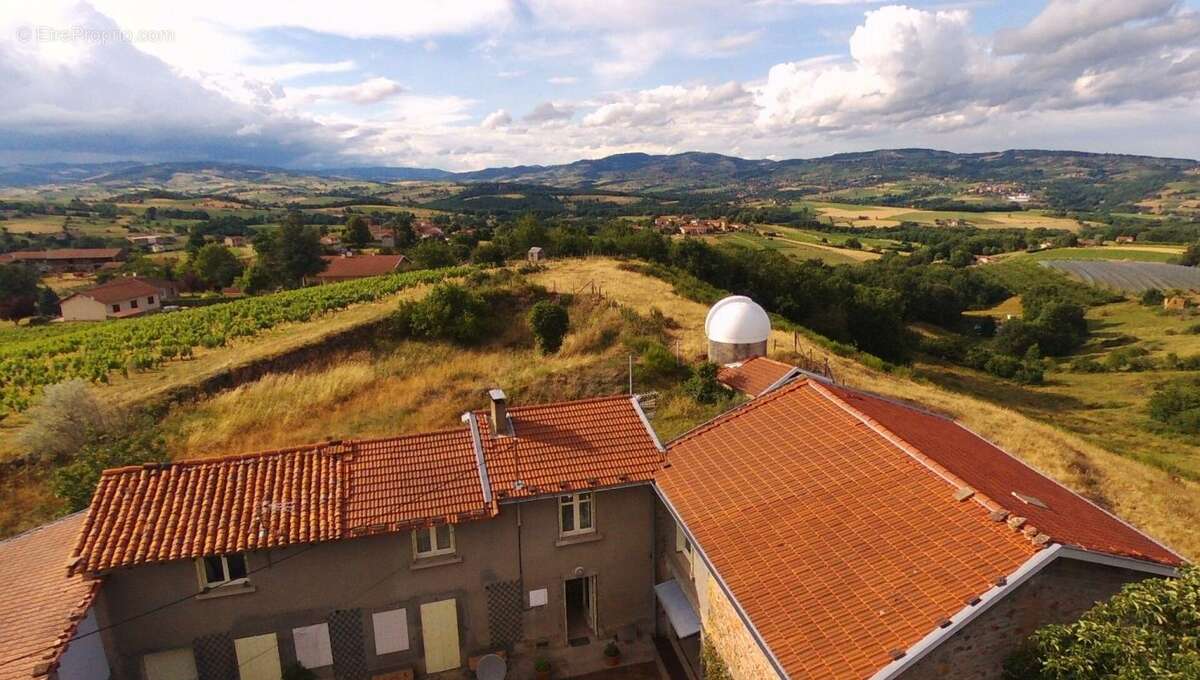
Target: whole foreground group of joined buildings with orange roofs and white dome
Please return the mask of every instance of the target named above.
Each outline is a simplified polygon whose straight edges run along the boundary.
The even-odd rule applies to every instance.
[[[706,332],[750,399],[666,447],[638,397],[492,390],[462,427],[107,470],[0,542],[30,631],[0,679],[568,678],[611,642],[689,678],[708,646],[739,680],[990,680],[1183,564],[948,417],[768,359],[749,299]]]

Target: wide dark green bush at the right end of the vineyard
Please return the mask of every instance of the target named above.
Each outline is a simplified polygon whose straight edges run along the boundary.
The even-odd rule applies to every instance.
[[[392,315],[392,327],[402,337],[470,344],[486,333],[487,312],[487,302],[478,293],[443,283],[424,300],[402,302]]]

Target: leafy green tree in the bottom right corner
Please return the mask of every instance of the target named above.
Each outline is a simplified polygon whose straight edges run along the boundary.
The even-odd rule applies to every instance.
[[[1045,626],[1004,663],[1008,680],[1200,678],[1200,568],[1128,583],[1072,624]]]

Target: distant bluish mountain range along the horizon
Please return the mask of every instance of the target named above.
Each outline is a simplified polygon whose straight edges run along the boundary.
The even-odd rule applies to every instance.
[[[98,183],[158,185],[178,174],[230,181],[284,177],[349,179],[371,182],[523,182],[611,191],[737,189],[761,187],[804,192],[817,187],[877,186],[930,177],[958,181],[1052,180],[1135,181],[1138,177],[1196,173],[1196,161],[1079,151],[1009,150],[954,154],[931,149],[887,149],[788,161],[746,160],[720,154],[618,154],[557,166],[515,166],[451,173],[436,168],[349,167],[283,169],[205,161],[181,163],[23,164],[0,167],[0,186]]]

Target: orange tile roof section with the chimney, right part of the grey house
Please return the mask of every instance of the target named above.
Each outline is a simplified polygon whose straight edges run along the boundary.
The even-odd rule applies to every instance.
[[[628,396],[508,413],[514,437],[492,437],[490,416],[476,413],[497,500],[644,482],[662,464],[656,439]]]

